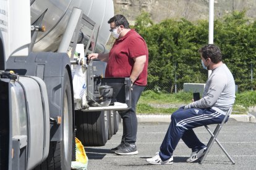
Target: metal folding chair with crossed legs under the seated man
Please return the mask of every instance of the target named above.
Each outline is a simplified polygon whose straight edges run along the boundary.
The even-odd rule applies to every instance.
[[[216,126],[214,132],[211,132],[211,130],[209,129],[209,127],[208,127],[207,125],[205,125],[205,128],[207,129],[207,131],[211,134],[211,139],[209,140],[209,142],[208,142],[208,144],[207,144],[207,150],[205,150],[204,155],[203,155],[203,156],[200,158],[200,160],[199,160],[199,163],[200,163],[200,164],[203,164],[203,161],[205,160],[205,158],[206,158],[208,152],[210,151],[210,149],[211,149],[211,147],[212,147],[212,145],[213,145],[213,143],[214,143],[215,141],[216,141],[216,143],[220,146],[220,148],[223,150],[223,152],[228,156],[229,160],[230,160],[233,164],[235,164],[234,160],[231,158],[231,156],[229,155],[229,153],[226,152],[226,150],[224,149],[224,147],[220,144],[219,140],[216,139],[216,137],[218,136],[218,134],[219,134],[219,132],[220,132],[220,130],[221,130],[223,124],[225,123],[226,119],[228,119],[228,116],[231,114],[231,112],[232,112],[232,107],[229,108],[228,113],[227,113],[226,116],[224,117],[223,121],[222,121],[220,124],[218,124],[218,125]]]

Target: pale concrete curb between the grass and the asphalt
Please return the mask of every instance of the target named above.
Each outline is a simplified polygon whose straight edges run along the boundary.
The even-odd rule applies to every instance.
[[[236,121],[256,123],[254,115],[247,113],[247,115],[230,115]],[[138,122],[171,122],[171,115],[137,115]]]

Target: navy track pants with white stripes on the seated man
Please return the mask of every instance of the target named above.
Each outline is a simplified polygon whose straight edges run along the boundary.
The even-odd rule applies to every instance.
[[[171,123],[160,147],[161,160],[166,161],[173,156],[180,139],[192,149],[192,152],[206,147],[197,138],[193,128],[221,123],[224,116],[211,108],[179,108],[171,115]]]

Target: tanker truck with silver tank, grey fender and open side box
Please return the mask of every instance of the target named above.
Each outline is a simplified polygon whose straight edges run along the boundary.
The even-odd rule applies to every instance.
[[[130,79],[87,59],[108,52],[113,15],[112,0],[0,0],[0,169],[70,169],[75,137],[102,146],[116,134]]]

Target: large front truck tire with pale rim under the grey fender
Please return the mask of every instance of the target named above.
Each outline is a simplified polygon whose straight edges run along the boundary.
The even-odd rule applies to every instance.
[[[50,170],[50,169],[71,169],[72,159],[72,140],[73,138],[73,124],[72,124],[72,92],[70,85],[70,76],[65,70],[64,73],[64,97],[63,102],[63,140],[61,142],[50,142],[49,154],[43,163],[37,166],[35,169]]]

